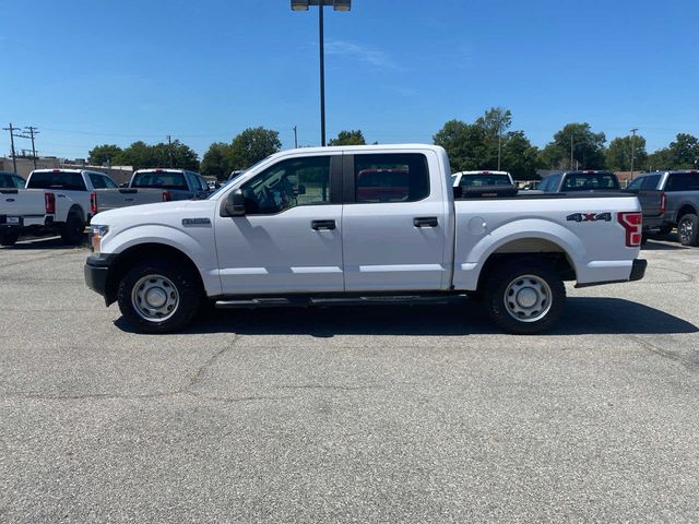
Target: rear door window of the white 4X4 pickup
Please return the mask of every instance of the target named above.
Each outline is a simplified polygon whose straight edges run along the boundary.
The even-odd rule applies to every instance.
[[[419,153],[355,155],[357,203],[416,202],[429,194],[427,158]]]

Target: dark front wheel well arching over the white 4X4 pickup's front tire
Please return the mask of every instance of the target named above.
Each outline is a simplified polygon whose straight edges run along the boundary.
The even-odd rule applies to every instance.
[[[187,254],[177,248],[167,246],[165,243],[140,243],[133,246],[126,251],[119,253],[117,259],[109,266],[109,275],[107,276],[106,298],[107,303],[112,303],[117,300],[117,290],[119,283],[123,275],[138,262],[144,260],[166,260],[168,262],[178,262],[187,269],[192,275],[194,275],[196,282],[204,293],[204,283],[201,278],[201,273],[197,264]]]

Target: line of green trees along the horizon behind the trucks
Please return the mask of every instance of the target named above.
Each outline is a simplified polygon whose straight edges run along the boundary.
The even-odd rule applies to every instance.
[[[453,171],[507,170],[517,179],[535,179],[537,169],[611,169],[614,171],[688,169],[699,163],[699,139],[678,133],[666,147],[651,154],[640,134],[615,138],[606,145],[606,135],[591,126],[568,123],[543,148],[533,145],[522,130],[511,130],[512,114],[493,107],[469,123],[450,120],[433,136],[447,150]],[[341,131],[329,145],[364,145],[362,130]],[[97,145],[90,151],[93,165],[123,165],[135,169],[177,167],[199,170],[204,176],[225,179],[230,171],[246,169],[282,147],[277,131],[248,128],[230,142],[214,142],[201,162],[188,145],[175,140],[149,145],[138,141],[121,148]],[[631,166],[631,163],[633,165]]]

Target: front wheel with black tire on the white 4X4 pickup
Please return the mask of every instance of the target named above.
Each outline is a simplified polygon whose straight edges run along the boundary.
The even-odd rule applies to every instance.
[[[158,300],[149,302],[149,293]],[[166,302],[158,306],[163,296]],[[171,333],[182,329],[197,314],[201,297],[196,275],[180,264],[164,260],[137,265],[121,278],[117,290],[121,314],[140,333]]]

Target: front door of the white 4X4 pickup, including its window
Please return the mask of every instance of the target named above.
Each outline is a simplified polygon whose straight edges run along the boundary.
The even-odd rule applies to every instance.
[[[246,214],[216,217],[224,294],[344,289],[342,203],[330,183],[331,164],[333,177],[341,177],[341,158],[282,159],[241,186]]]

